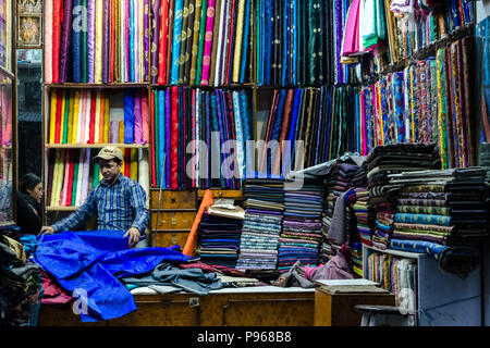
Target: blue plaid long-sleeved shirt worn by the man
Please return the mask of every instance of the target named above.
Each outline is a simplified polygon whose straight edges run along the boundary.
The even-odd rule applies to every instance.
[[[144,235],[149,220],[146,192],[135,181],[120,174],[112,185],[105,179],[73,213],[52,225],[56,232],[77,231],[97,213],[97,229],[127,231],[136,227]]]

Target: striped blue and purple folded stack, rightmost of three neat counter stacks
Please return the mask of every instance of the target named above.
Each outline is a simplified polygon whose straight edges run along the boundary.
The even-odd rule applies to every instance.
[[[323,186],[304,183],[299,189],[284,187],[284,217],[279,238],[278,270],[286,271],[296,261],[317,265],[321,241]]]

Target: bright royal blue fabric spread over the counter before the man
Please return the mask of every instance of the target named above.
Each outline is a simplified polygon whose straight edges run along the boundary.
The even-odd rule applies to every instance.
[[[136,310],[133,296],[118,279],[150,272],[161,262],[191,259],[173,248],[128,249],[119,231],[63,232],[38,237],[35,262],[68,291],[82,289],[87,313],[82,322],[109,320]],[[82,301],[82,297],[79,298]]]

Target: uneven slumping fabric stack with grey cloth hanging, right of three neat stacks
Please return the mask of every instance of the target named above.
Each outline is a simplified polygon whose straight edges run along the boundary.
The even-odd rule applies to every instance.
[[[330,174],[326,177],[326,204],[323,207],[323,219],[322,219],[322,235],[323,243],[321,245],[321,260],[327,262],[330,256],[335,253],[334,247],[332,245],[342,245],[345,243],[345,236],[332,236],[331,234],[331,225],[332,223],[341,223],[342,225],[345,223],[344,213],[342,213],[342,222],[333,221],[334,220],[334,211],[335,209],[344,210],[344,194],[350,189],[352,185],[352,179],[357,174],[359,166],[352,162],[338,162],[334,164],[334,167],[330,172]],[[338,203],[338,199],[342,196],[342,201]],[[339,208],[336,207],[339,206]],[[341,227],[339,231],[343,231]]]

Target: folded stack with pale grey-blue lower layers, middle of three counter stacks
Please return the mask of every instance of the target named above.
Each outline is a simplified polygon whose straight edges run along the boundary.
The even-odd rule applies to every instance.
[[[284,211],[284,181],[247,178],[244,182],[245,219],[236,269],[277,270],[278,245]]]

